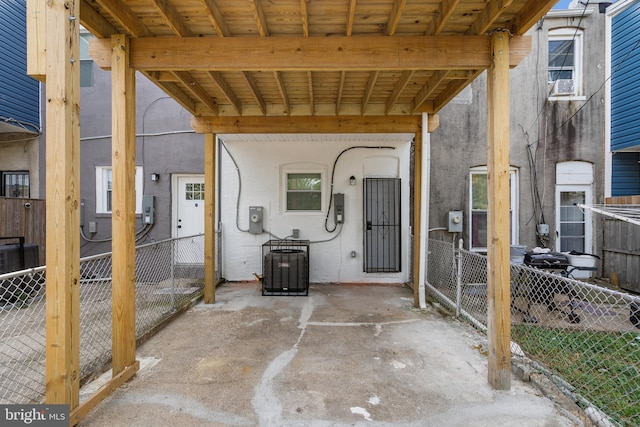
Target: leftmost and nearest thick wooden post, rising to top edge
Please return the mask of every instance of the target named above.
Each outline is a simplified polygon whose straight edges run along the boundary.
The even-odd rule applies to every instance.
[[[46,4],[45,400],[78,406],[80,366],[80,1]]]

